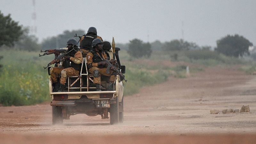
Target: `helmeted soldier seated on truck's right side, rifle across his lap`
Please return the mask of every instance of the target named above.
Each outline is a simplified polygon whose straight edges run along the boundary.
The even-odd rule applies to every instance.
[[[114,82],[116,80],[116,73],[110,69],[107,73],[107,66],[104,59],[107,59],[106,53],[102,49],[102,41],[95,39],[92,41],[92,49],[87,54],[87,67],[89,72],[93,74],[93,83],[96,84],[96,91],[100,90],[100,74],[104,76],[110,76],[108,90],[114,90]],[[116,62],[116,60],[110,60],[110,63]]]

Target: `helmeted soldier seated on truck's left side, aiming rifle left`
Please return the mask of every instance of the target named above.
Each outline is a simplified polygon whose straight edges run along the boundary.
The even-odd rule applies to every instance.
[[[67,76],[75,76],[80,73],[83,56],[82,52],[77,47],[76,39],[68,39],[67,48],[68,51],[72,51],[65,56],[62,66],[50,68],[50,75],[53,83],[52,86],[54,87],[52,90],[53,92],[65,91]],[[61,74],[60,82],[57,81],[57,75],[59,74]]]

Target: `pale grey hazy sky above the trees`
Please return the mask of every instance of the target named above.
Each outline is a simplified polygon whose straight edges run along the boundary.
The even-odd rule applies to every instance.
[[[112,41],[114,36],[115,42],[133,38],[166,42],[183,37],[214,47],[221,37],[240,34],[256,45],[256,0],[35,1],[40,41],[64,30],[87,32],[96,27],[103,40]],[[33,26],[32,0],[0,0],[0,10],[23,26]]]

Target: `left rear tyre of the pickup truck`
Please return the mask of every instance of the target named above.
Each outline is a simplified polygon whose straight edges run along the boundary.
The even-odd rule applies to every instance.
[[[61,107],[52,106],[52,125],[62,124],[63,115]]]

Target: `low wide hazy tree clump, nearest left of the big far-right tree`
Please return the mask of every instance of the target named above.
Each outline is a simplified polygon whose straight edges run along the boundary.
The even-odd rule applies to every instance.
[[[170,50],[189,50],[189,49],[199,49],[199,46],[195,42],[187,42],[183,39],[172,40],[170,42],[165,42],[163,47],[165,51]]]

